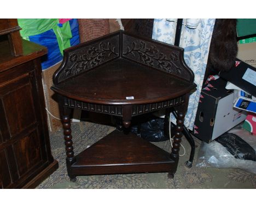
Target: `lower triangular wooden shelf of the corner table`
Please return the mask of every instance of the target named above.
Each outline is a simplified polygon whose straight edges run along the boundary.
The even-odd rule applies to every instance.
[[[113,131],[78,154],[71,166],[74,175],[175,172],[170,153],[134,133]]]

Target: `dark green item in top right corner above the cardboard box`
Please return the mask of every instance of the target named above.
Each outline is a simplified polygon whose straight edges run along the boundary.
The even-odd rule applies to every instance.
[[[256,34],[256,19],[237,19],[237,36]]]

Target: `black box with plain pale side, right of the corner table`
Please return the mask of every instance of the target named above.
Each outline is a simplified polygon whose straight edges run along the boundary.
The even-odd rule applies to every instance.
[[[201,90],[192,133],[207,143],[246,119],[247,112],[233,108],[234,90],[225,85],[226,81],[218,78]]]

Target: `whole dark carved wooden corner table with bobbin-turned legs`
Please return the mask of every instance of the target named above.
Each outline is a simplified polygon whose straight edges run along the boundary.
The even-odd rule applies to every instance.
[[[176,172],[189,93],[196,85],[183,48],[123,31],[64,51],[51,87],[59,96],[67,172],[77,175]],[[71,110],[115,115],[129,129],[131,118],[159,109],[178,112],[171,154],[133,133],[113,131],[74,156]]]

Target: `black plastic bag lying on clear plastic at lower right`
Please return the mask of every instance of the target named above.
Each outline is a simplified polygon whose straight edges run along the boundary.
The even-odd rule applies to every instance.
[[[256,152],[245,140],[234,133],[224,133],[215,139],[222,144],[235,158],[256,161]]]

